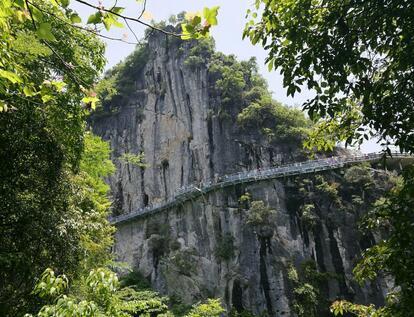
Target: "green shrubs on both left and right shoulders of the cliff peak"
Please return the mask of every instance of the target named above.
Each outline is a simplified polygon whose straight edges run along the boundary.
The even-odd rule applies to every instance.
[[[171,43],[169,45],[173,45],[172,48],[178,52],[185,51],[184,66],[192,70],[207,69],[210,116],[236,120],[241,131],[258,131],[273,144],[301,146],[308,135],[311,121],[299,109],[284,106],[272,99],[254,57],[240,62],[234,55],[216,52],[212,38],[194,41],[190,46],[179,40]],[[138,75],[149,60],[148,44],[142,43],[124,62],[105,74],[97,89],[102,110],[116,111],[135,96]],[[165,91],[157,93],[162,95]]]

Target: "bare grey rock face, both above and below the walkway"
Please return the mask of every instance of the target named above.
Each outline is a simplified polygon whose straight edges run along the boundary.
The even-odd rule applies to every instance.
[[[218,175],[303,159],[296,146],[242,131],[236,124],[241,105],[234,104],[226,116],[218,113],[220,98],[208,67],[186,65],[193,45],[151,35],[148,58],[135,72],[130,94],[115,111],[106,108],[92,120],[94,132],[109,140],[118,167],[108,179],[117,214]],[[141,152],[146,168],[119,160],[122,153]],[[221,297],[228,310],[295,316],[295,284],[288,271],[308,260],[334,276],[321,285],[325,300],[383,302],[384,285],[361,288],[352,281],[356,258],[374,239],[357,232],[358,215],[335,214],[333,221],[333,207],[322,207],[320,221],[306,229],[289,189],[294,187],[292,180],[237,185],[119,225],[115,252],[158,291],[185,303]],[[246,192],[275,210],[265,225],[248,223],[249,207],[239,202]]]

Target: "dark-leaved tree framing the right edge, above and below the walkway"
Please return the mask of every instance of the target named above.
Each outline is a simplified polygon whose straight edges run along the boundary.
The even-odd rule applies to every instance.
[[[248,13],[244,36],[268,51],[269,69],[280,69],[289,95],[300,92],[301,85],[315,91],[304,104],[318,121],[309,147],[362,143],[375,134],[385,145],[392,141],[401,151],[414,152],[414,3],[257,0],[255,8]],[[377,272],[395,277],[386,305],[375,310],[342,301],[332,306],[335,314],[412,315],[413,192],[413,168],[408,167],[403,184],[365,223],[369,230],[386,225],[389,236],[364,253],[355,273],[360,281]]]

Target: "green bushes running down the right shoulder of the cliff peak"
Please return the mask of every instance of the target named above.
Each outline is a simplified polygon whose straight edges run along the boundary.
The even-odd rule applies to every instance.
[[[265,79],[259,74],[256,59],[237,61],[214,51],[214,42],[207,38],[189,51],[185,64],[207,65],[212,98],[217,98],[216,111],[222,119],[236,116],[245,131],[259,131],[269,142],[300,146],[311,123],[304,114],[272,99]]]

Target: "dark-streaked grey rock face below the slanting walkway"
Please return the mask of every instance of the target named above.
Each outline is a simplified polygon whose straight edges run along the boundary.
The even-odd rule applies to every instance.
[[[352,281],[356,257],[370,243],[357,232],[356,217],[343,213],[337,219],[340,225],[335,225],[330,219],[333,215],[326,211],[320,215],[321,223],[306,231],[297,214],[287,208],[295,197],[285,187],[279,181],[236,186],[122,224],[115,252],[121,261],[148,277],[157,290],[177,295],[186,303],[220,297],[228,308],[294,316],[289,266],[299,267],[312,259],[320,272],[336,276],[320,290],[325,299],[380,304],[381,284],[360,288]],[[276,210],[264,230],[246,221],[249,211],[238,202],[245,191]],[[229,257],[220,257],[217,251],[227,235],[234,238],[231,248],[224,250]]]

